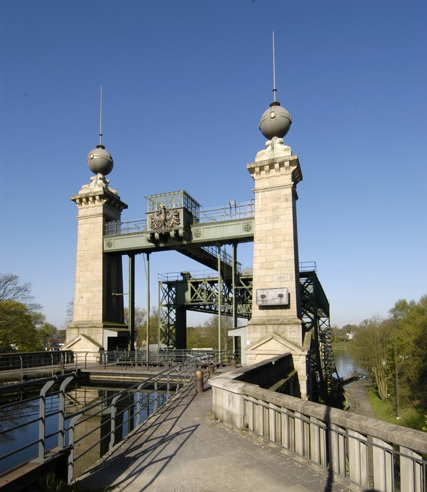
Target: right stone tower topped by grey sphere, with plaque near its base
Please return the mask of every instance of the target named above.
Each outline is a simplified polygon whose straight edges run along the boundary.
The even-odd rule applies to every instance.
[[[284,145],[289,112],[273,102],[260,122],[267,149],[248,164],[255,187],[252,318],[247,326],[247,362],[290,352],[302,398],[306,396],[306,336],[300,313],[296,187],[302,181],[298,156]]]

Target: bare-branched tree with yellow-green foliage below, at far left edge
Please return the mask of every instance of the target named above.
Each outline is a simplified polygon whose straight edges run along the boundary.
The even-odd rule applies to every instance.
[[[39,309],[29,282],[21,283],[14,274],[0,274],[0,351],[41,348],[37,327],[45,316]]]

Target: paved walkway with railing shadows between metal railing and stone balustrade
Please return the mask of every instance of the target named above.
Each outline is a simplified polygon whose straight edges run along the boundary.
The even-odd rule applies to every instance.
[[[211,418],[211,387],[166,404],[80,478],[114,492],[347,492],[328,474]]]

